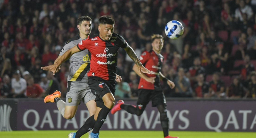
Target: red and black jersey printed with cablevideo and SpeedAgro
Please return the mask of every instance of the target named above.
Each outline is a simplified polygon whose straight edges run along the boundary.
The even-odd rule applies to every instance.
[[[77,44],[78,49],[88,49],[91,53],[88,77],[97,76],[104,80],[114,81],[117,70],[117,50],[125,48],[127,42],[118,34],[113,33],[110,40],[102,40],[99,34],[89,35]]]

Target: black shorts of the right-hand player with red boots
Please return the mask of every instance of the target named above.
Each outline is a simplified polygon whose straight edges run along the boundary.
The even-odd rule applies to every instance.
[[[146,105],[149,101],[152,101],[152,106],[155,107],[157,105],[165,105],[166,100],[163,91],[155,91],[155,90],[147,90],[147,89],[139,89],[139,98],[137,101],[137,105]]]

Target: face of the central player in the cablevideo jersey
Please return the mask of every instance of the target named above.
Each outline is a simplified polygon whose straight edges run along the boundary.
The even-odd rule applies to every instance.
[[[98,30],[99,30],[99,36],[101,39],[110,40],[114,32],[114,25],[99,24]]]

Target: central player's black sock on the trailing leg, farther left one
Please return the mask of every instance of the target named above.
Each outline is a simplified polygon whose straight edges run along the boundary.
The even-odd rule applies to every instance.
[[[94,115],[90,116],[85,123],[83,124],[83,126],[81,128],[79,128],[76,131],[75,134],[75,138],[80,138],[82,135],[84,135],[85,133],[89,132],[91,129],[93,129],[94,125],[95,125],[95,120],[94,120]]]

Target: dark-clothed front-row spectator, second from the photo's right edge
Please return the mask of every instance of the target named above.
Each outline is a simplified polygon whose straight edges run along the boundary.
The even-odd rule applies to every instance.
[[[249,91],[243,86],[239,78],[236,77],[233,83],[226,89],[226,96],[229,98],[246,98]]]

